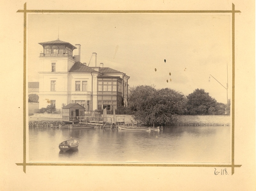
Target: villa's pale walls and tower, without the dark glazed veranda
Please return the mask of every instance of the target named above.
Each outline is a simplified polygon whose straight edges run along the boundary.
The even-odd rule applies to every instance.
[[[76,47],[69,43],[57,40],[39,44],[44,47],[44,53],[39,57],[39,108],[55,105],[60,109],[62,104],[79,103],[85,110],[97,109],[97,77],[104,76],[104,73],[99,72],[100,67],[97,67],[97,54],[92,53],[92,67],[87,67],[80,63],[80,44],[76,44],[76,54],[79,55],[74,57],[72,51]],[[60,51],[65,52],[65,46],[70,52],[63,53],[62,56]],[[45,47],[48,49],[45,50]],[[58,47],[61,49],[58,50]],[[101,66],[103,67],[103,64]],[[123,79],[122,96],[127,107],[129,77],[122,72],[107,75]]]

